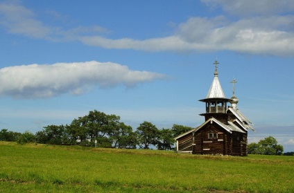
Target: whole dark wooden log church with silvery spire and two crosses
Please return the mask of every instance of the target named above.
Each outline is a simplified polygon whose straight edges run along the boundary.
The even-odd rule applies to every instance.
[[[214,62],[214,80],[205,99],[205,122],[196,129],[192,129],[176,137],[176,150],[192,154],[218,154],[231,156],[247,156],[248,129],[254,131],[252,122],[239,109],[239,102],[234,94],[232,98],[225,98],[218,80],[218,62]],[[230,106],[227,105],[230,102]]]

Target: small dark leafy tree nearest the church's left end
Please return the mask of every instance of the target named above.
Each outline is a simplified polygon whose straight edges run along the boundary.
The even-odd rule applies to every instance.
[[[159,130],[159,138],[157,141],[157,149],[159,150],[171,150],[175,144],[173,137],[173,131],[171,129]]]

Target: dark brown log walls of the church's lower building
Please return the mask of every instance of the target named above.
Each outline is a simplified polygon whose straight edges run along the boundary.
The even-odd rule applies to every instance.
[[[192,154],[248,155],[247,132],[227,131],[216,122],[210,124],[208,122],[200,129],[178,138],[177,144],[178,151],[186,151]]]

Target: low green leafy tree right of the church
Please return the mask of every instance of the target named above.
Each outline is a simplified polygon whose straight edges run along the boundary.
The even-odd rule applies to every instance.
[[[283,151],[284,147],[277,144],[277,140],[272,136],[248,145],[248,154],[282,155]]]

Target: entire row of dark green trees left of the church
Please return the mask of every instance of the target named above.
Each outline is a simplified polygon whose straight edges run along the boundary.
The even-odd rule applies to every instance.
[[[94,147],[113,147],[171,150],[174,138],[192,127],[173,125],[171,129],[157,129],[151,122],[144,121],[136,131],[125,125],[116,115],[107,115],[100,111],[89,111],[86,116],[75,118],[69,125],[48,125],[42,131],[24,134],[2,129],[0,140],[17,143],[42,143],[51,145],[83,145]]]

